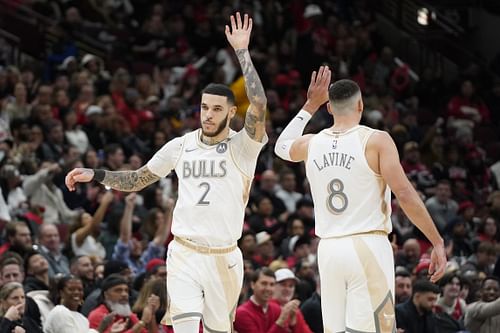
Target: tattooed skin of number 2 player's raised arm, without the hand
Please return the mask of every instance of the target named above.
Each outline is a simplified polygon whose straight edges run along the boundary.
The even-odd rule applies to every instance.
[[[267,104],[264,87],[250,58],[250,52],[247,49],[238,49],[236,55],[243,71],[245,90],[251,104],[245,119],[245,129],[250,137],[261,140],[265,133]]]

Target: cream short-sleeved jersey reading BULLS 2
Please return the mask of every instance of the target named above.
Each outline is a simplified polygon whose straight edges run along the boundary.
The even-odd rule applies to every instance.
[[[206,246],[229,246],[241,237],[257,157],[267,137],[257,142],[243,129],[208,146],[200,135],[196,130],[169,141],[147,166],[159,177],[174,169],[179,178],[175,236]]]

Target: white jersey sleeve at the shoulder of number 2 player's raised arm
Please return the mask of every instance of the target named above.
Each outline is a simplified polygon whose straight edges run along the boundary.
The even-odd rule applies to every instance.
[[[245,128],[231,137],[231,154],[234,162],[247,177],[253,178],[257,158],[267,141],[267,134],[261,142],[255,141],[248,135]]]

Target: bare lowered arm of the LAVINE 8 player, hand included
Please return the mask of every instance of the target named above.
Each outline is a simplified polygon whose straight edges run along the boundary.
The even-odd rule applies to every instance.
[[[432,282],[439,280],[446,268],[444,242],[415,188],[412,186],[399,162],[394,141],[386,132],[373,134],[368,140],[367,152],[378,152],[378,166],[382,178],[396,195],[399,204],[410,221],[415,224],[434,246],[429,273],[434,273]],[[376,171],[376,170],[375,170]]]

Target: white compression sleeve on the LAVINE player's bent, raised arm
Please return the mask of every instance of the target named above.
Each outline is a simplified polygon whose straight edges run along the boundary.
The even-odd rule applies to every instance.
[[[281,157],[286,161],[291,161],[290,148],[296,139],[302,136],[304,133],[304,128],[311,119],[312,115],[304,110],[300,110],[299,113],[290,121],[290,123],[281,132],[278,140],[276,140],[276,145],[274,146],[274,152],[276,155]]]

